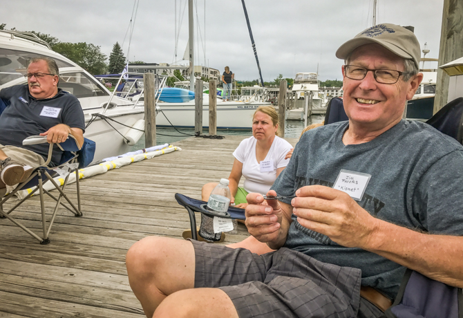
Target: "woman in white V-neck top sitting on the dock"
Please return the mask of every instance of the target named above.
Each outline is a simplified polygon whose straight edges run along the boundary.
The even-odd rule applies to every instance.
[[[246,195],[249,192],[267,194],[276,177],[285,169],[289,159],[286,154],[292,145],[276,135],[278,130],[278,113],[272,106],[259,106],[252,120],[252,137],[240,142],[233,153],[235,161],[229,176],[231,203],[236,207],[247,206]],[[241,176],[245,177],[243,188],[238,187]],[[207,183],[202,187],[202,200],[209,200],[211,191],[217,183]],[[271,252],[265,243],[249,236],[244,241],[228,245],[245,247],[252,252],[263,254]]]

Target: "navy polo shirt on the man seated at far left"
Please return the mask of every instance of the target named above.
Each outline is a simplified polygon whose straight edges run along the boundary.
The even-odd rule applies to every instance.
[[[29,93],[27,84],[3,88],[0,98],[10,100],[10,106],[0,115],[0,144],[16,146],[48,157],[48,144],[23,146],[24,139],[39,135],[57,124],[67,124],[71,128],[85,131],[84,112],[74,95],[58,88],[57,95],[45,100],[37,100]],[[51,162],[59,165],[62,152],[57,146],[53,149]]]

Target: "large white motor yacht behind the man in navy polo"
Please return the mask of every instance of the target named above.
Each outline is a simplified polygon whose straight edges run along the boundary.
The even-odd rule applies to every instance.
[[[47,56],[59,66],[59,88],[75,95],[85,115],[84,137],[96,142],[94,160],[131,151],[122,137],[135,122],[144,118],[144,109],[111,92],[82,67],[50,49],[28,32],[0,30],[0,89],[25,84],[23,77],[32,57]]]

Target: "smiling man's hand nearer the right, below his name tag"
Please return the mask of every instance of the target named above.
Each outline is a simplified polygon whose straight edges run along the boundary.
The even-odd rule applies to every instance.
[[[346,247],[366,247],[378,226],[377,218],[343,191],[311,185],[296,191],[292,213],[310,230]]]

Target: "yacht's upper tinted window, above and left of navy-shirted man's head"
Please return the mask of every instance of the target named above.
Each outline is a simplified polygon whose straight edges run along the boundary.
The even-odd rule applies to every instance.
[[[10,50],[0,48],[0,85],[11,82],[26,74],[28,62],[34,57],[41,57],[43,54],[30,53],[21,50]],[[58,67],[73,66],[68,62],[55,59]]]

